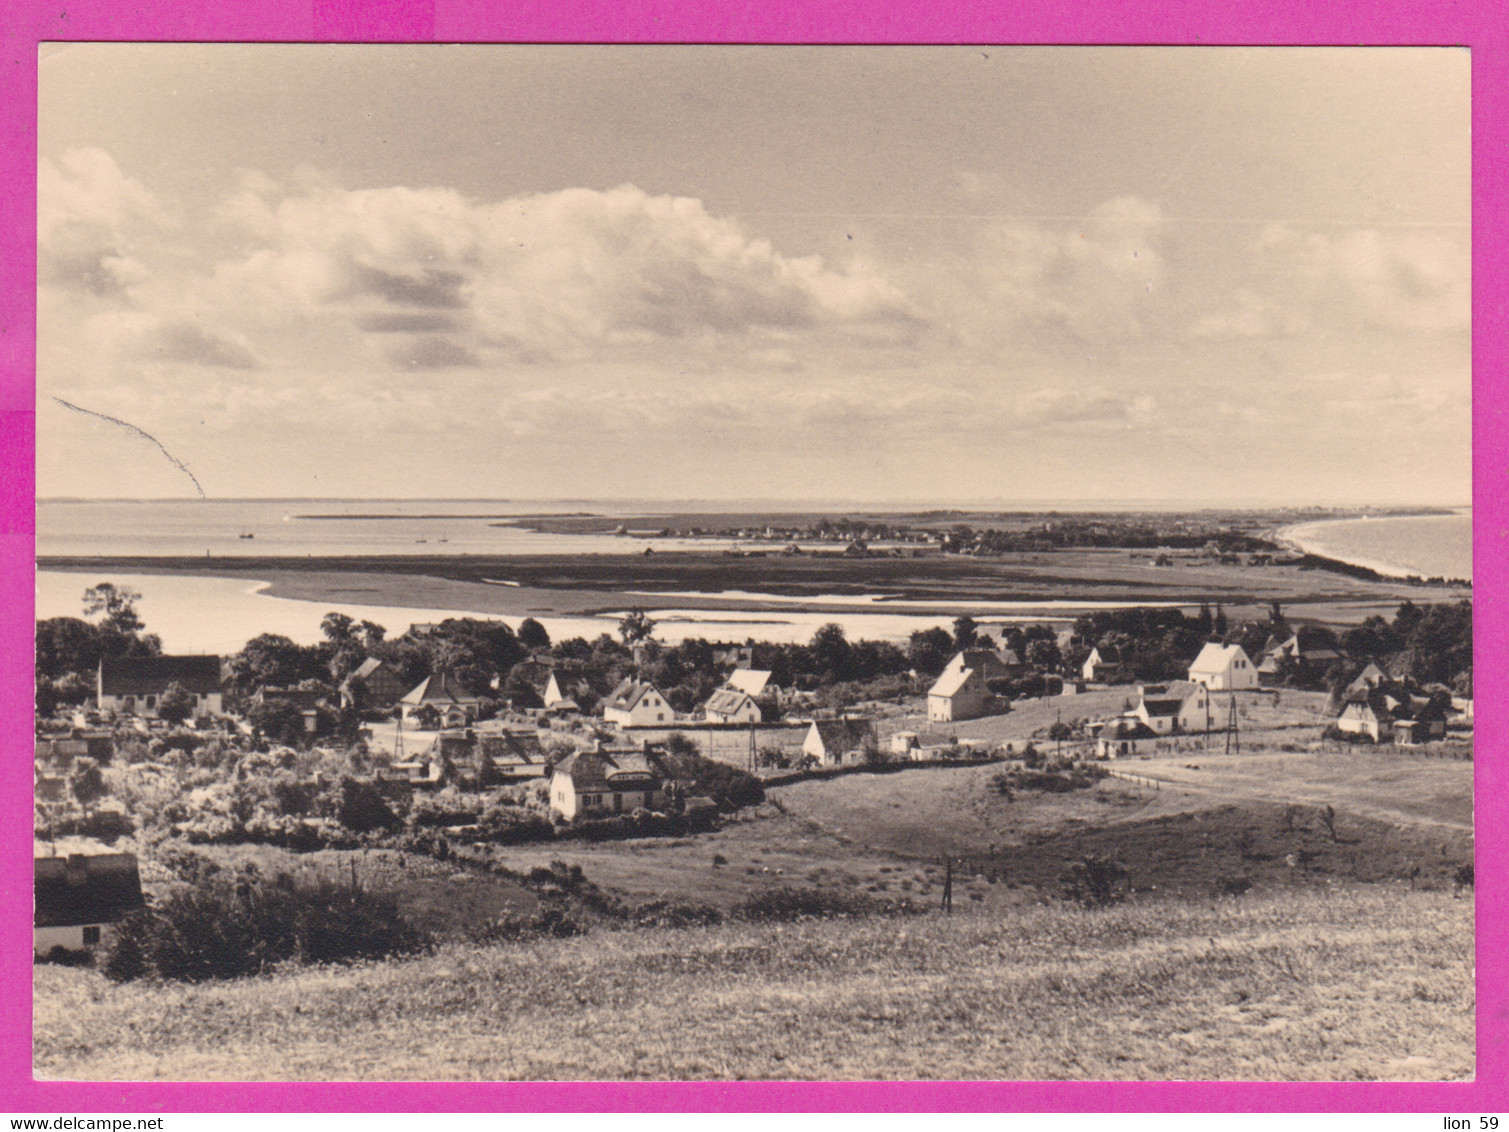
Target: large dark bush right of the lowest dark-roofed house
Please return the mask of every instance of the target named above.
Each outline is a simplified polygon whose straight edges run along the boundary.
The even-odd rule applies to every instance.
[[[201,983],[255,975],[287,960],[347,963],[424,951],[429,936],[386,895],[318,883],[296,887],[255,868],[201,874],[195,887],[121,921],[104,974]]]

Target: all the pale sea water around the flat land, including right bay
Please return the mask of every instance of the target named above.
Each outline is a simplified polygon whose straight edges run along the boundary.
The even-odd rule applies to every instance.
[[[771,510],[853,510],[854,504],[632,504],[605,501],[435,501],[435,500],[211,500],[211,501],[65,501],[38,503],[36,552],[100,557],[330,557],[367,554],[640,554],[655,549],[718,546],[706,540],[560,534],[507,525],[524,515],[610,515],[631,521],[665,512],[738,513]],[[883,510],[874,507],[872,510]],[[902,507],[896,507],[902,510]],[[501,524],[501,525],[499,525]],[[1390,531],[1394,534],[1390,539]],[[1471,512],[1452,516],[1302,524],[1284,531],[1316,554],[1361,561],[1387,574],[1471,577]],[[247,537],[243,537],[247,536]],[[1453,557],[1452,549],[1456,554]],[[261,632],[300,643],[320,640],[326,613],[377,622],[389,635],[410,623],[447,617],[496,616],[477,610],[364,605],[343,601],[275,598],[266,583],[244,578],[39,571],[36,616],[80,616],[88,586],[112,581],[142,595],[137,608],[149,632],[169,652],[226,655]],[[916,629],[952,625],[948,604],[934,613],[887,613],[875,596],[834,596],[851,604],[842,614],[821,611],[696,610],[673,604],[690,595],[643,595],[667,643],[709,640],[807,641],[827,622],[841,622],[851,640],[905,641]],[[751,604],[767,595],[729,592]],[[656,598],[661,604],[656,604]],[[789,599],[780,599],[789,601]],[[1073,619],[1089,608],[1129,602],[988,602],[991,622]],[[539,617],[552,638],[589,640],[617,628],[622,611],[602,616]],[[504,617],[504,620],[518,620]]]

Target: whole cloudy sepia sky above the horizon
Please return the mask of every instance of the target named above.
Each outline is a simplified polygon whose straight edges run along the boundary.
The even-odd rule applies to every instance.
[[[1465,50],[42,51],[42,497],[1471,494]]]

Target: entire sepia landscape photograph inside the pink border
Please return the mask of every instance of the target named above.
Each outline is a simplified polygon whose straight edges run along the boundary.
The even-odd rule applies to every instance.
[[[36,149],[39,1081],[1476,1078],[1467,50],[44,44]]]

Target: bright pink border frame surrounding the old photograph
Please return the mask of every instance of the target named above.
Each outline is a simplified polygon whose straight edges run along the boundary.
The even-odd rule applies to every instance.
[[[261,1111],[1443,1111],[1509,1108],[1504,996],[1504,818],[1498,752],[1509,670],[1503,595],[1509,501],[1504,389],[1504,151],[1509,145],[1509,17],[1500,0],[1429,6],[1403,0],[1218,6],[1195,0],[1105,5],[1064,0],[948,6],[905,0],[745,5],[682,0],[524,3],[484,0],[260,0],[255,5],[148,0],[75,5],[6,0],[0,26],[0,1106],[8,1112]],[[1477,688],[1477,1081],[1471,1084],[50,1084],[30,1066],[29,770],[32,569],[35,548],[35,204],[38,44],[57,41],[305,42],[1041,42],[1041,44],[1376,44],[1473,50],[1474,223],[1474,574]]]

